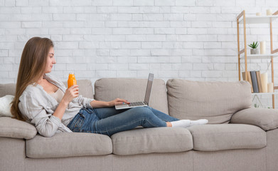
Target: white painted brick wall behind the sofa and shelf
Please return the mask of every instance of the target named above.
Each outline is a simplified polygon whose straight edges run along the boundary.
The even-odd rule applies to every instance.
[[[265,14],[266,9],[277,11],[278,4],[276,0],[0,0],[0,83],[16,82],[23,46],[33,36],[53,40],[57,59],[53,73],[64,81],[69,71],[92,81],[146,78],[149,72],[165,81],[237,81],[235,18],[243,9],[247,15]],[[278,24],[273,27],[278,48]],[[269,43],[266,25],[248,26],[247,33],[248,43]],[[251,61],[250,68],[267,71],[267,62]],[[274,63],[277,73],[278,61]],[[278,83],[278,74],[275,78]]]

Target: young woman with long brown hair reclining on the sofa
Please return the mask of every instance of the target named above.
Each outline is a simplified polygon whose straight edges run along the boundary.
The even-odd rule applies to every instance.
[[[139,125],[187,128],[208,123],[208,120],[178,120],[150,107],[115,110],[114,105],[129,103],[121,98],[109,102],[83,98],[78,86],[65,88],[59,79],[46,75],[56,63],[53,47],[49,38],[34,37],[26,43],[11,106],[15,118],[32,123],[45,137],[72,131],[110,136]]]

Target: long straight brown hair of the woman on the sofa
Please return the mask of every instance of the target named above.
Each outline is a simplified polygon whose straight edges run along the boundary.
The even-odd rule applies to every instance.
[[[33,37],[23,49],[16,81],[16,95],[11,105],[11,114],[18,120],[26,120],[18,108],[19,97],[28,85],[36,83],[43,76],[51,47],[53,42],[49,38]]]

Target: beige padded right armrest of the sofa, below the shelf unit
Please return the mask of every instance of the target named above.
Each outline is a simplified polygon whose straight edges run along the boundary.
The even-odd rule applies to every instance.
[[[232,115],[230,123],[256,125],[263,130],[273,130],[278,128],[278,110],[247,108]]]

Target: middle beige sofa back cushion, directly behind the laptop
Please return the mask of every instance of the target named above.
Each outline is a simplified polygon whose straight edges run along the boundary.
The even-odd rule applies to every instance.
[[[95,100],[127,99],[129,102],[144,101],[147,79],[102,78],[95,81]],[[166,86],[155,79],[151,88],[149,106],[168,114]]]

